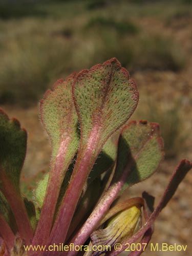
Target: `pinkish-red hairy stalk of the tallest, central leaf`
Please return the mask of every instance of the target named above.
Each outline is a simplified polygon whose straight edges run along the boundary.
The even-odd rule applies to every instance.
[[[84,150],[79,150],[70,184],[67,188],[65,197],[62,200],[48,244],[59,244],[66,239],[84,183],[88,179],[89,173],[91,172],[93,164],[99,153],[99,151],[94,150],[97,148],[97,141],[98,136],[95,136],[95,132],[93,132],[92,135],[90,135],[87,147]],[[46,255],[49,255],[49,252]],[[54,252],[52,252],[51,255],[54,255]]]

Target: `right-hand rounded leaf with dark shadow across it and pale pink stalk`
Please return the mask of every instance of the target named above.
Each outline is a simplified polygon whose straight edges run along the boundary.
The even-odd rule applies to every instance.
[[[89,234],[98,226],[102,216],[106,214],[120,191],[148,178],[155,172],[163,158],[162,146],[159,126],[156,123],[132,121],[124,128],[119,138],[114,179],[82,226],[78,237],[73,238],[74,244],[83,244],[88,239]],[[146,166],[142,164],[142,161]]]

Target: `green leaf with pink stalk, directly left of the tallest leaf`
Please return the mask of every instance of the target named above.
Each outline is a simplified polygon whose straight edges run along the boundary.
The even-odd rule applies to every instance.
[[[33,239],[44,244],[49,237],[61,184],[78,150],[77,114],[72,99],[73,73],[65,81],[59,80],[40,102],[40,115],[52,144],[49,180],[40,219]]]

